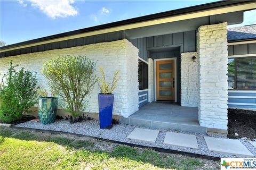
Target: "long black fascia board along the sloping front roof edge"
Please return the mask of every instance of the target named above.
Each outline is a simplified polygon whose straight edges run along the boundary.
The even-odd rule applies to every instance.
[[[55,39],[55,38],[78,35],[80,33],[101,30],[101,29],[106,29],[106,28],[113,28],[113,27],[117,27],[120,25],[132,24],[132,23],[149,21],[149,20],[156,20],[156,19],[170,17],[170,16],[174,16],[174,15],[181,15],[181,14],[197,12],[197,11],[205,11],[205,10],[210,10],[212,8],[225,7],[225,6],[244,4],[244,3],[248,3],[248,1],[218,1],[218,2],[212,2],[212,3],[190,6],[190,7],[185,7],[185,8],[179,8],[177,10],[171,10],[171,11],[166,11],[166,12],[161,12],[161,13],[156,13],[156,14],[140,16],[137,18],[127,19],[127,20],[122,20],[122,21],[117,21],[117,22],[111,22],[111,23],[107,23],[107,24],[97,25],[94,27],[88,27],[88,28],[84,28],[84,29],[63,32],[63,33],[59,33],[59,34],[52,35],[52,36],[23,41],[21,43],[3,46],[3,47],[1,47],[1,49],[4,50],[4,49],[8,49],[8,48],[38,43],[38,42],[45,41],[45,40],[51,40],[51,39]]]

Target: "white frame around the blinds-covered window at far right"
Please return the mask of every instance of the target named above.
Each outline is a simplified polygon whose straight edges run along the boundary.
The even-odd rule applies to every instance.
[[[256,58],[256,54],[254,54],[253,56],[228,56],[228,59],[234,59],[235,63],[234,63],[234,89],[228,89],[230,91],[237,91],[237,90],[244,90],[244,91],[255,91],[255,89],[237,89],[237,59],[241,59],[241,58]]]

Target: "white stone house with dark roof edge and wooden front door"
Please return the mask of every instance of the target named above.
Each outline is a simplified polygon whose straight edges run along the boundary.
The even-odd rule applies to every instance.
[[[181,107],[198,107],[199,126],[227,133],[227,108],[238,106],[230,96],[253,94],[233,95],[237,88],[228,89],[229,57],[244,55],[237,51],[245,45],[246,56],[255,53],[253,40],[239,47],[228,41],[227,25],[242,23],[243,12],[255,8],[253,1],[220,1],[8,45],[1,48],[1,71],[7,72],[13,60],[37,72],[39,85],[47,88],[41,74],[43,62],[68,54],[86,55],[109,78],[120,70],[121,80],[114,91],[116,117],[127,118],[153,101],[171,101]],[[98,92],[95,87],[84,112],[98,113]]]

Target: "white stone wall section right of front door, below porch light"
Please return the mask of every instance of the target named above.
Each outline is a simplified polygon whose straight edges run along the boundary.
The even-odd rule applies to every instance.
[[[181,106],[197,107],[198,104],[198,60],[197,52],[181,53]]]

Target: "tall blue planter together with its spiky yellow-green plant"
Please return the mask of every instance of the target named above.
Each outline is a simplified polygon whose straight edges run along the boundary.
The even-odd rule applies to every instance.
[[[99,78],[100,94],[98,94],[99,101],[99,121],[100,129],[112,127],[112,112],[114,104],[114,94],[119,78],[117,78],[119,71],[116,71],[111,82],[106,81],[105,72],[100,67],[101,78]]]

